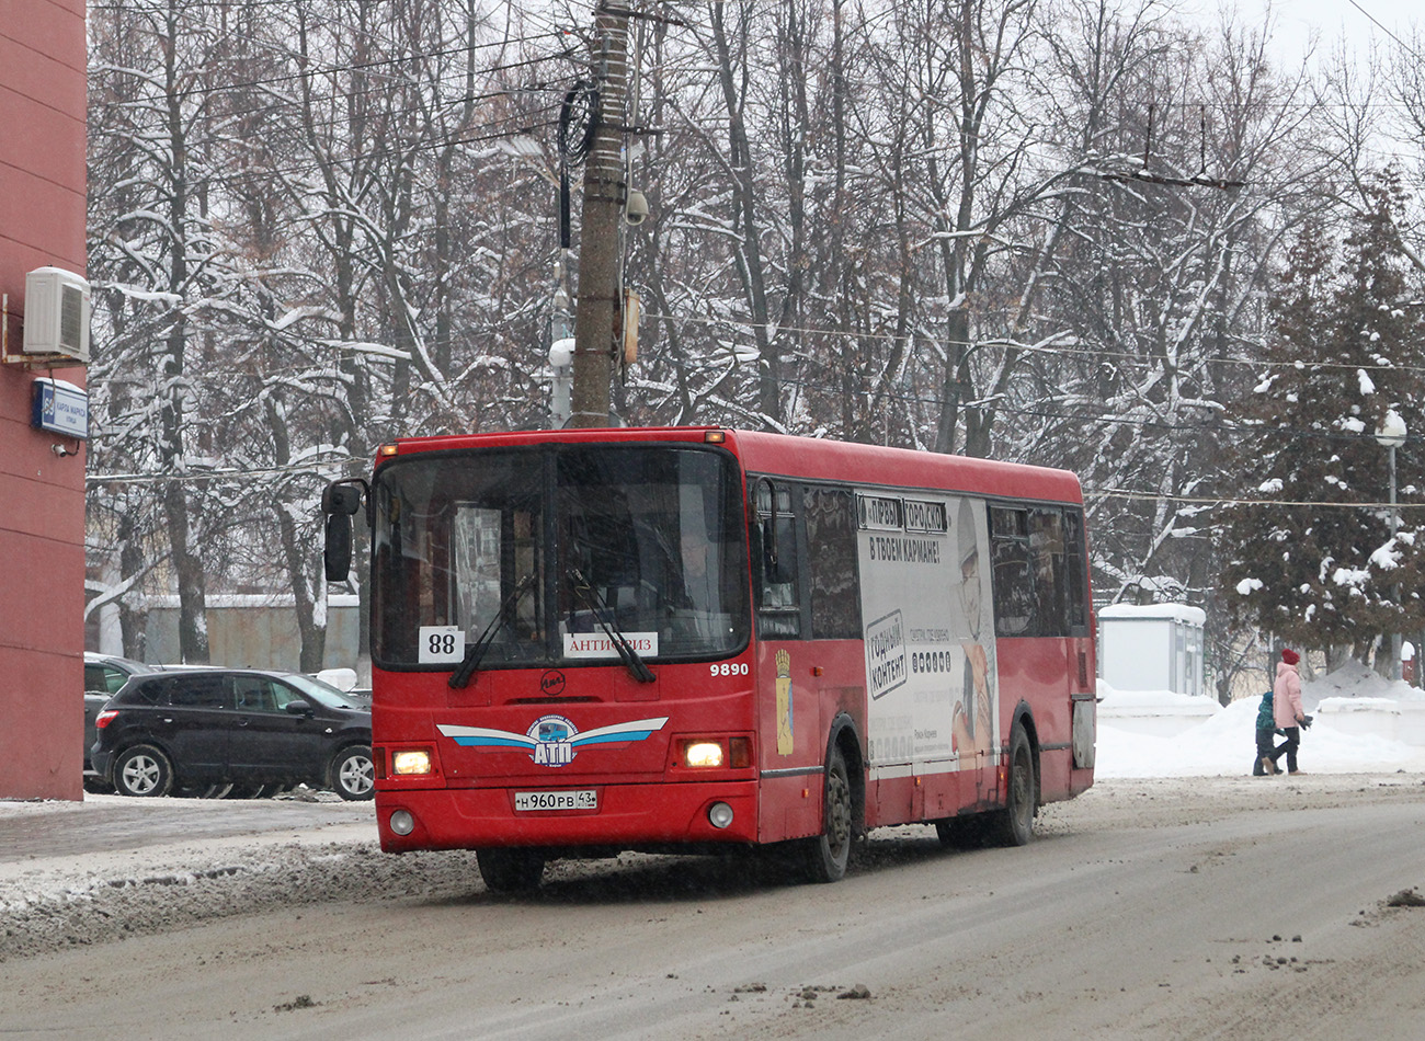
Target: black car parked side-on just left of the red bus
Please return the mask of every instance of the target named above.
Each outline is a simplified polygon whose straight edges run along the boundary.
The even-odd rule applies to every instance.
[[[94,769],[120,795],[309,785],[370,799],[370,708],[295,672],[134,676],[95,721]]]

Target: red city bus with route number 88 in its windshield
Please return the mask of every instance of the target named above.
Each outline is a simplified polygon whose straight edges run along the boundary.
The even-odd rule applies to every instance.
[[[866,830],[1030,839],[1093,783],[1083,498],[1060,470],[724,429],[399,440],[372,528],[383,850],[550,859]]]

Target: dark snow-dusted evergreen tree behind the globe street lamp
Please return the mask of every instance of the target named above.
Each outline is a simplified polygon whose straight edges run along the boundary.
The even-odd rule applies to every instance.
[[[1387,451],[1375,440],[1388,413],[1415,430],[1425,422],[1425,330],[1395,231],[1398,179],[1379,175],[1365,198],[1340,263],[1312,224],[1281,275],[1261,382],[1234,410],[1237,463],[1255,491],[1231,510],[1223,570],[1241,621],[1304,647],[1351,647],[1362,661],[1381,635],[1425,619],[1419,525],[1406,510],[1391,537]],[[1418,473],[1418,440],[1399,459]],[[1414,484],[1401,487],[1402,503],[1418,497]]]

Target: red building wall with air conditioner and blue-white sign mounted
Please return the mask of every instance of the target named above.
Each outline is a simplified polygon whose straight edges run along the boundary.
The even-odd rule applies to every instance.
[[[0,0],[0,293],[20,353],[24,275],[84,272],[84,4]],[[0,366],[0,799],[81,799],[84,451],[30,427],[31,385]],[[84,386],[83,367],[54,377]]]

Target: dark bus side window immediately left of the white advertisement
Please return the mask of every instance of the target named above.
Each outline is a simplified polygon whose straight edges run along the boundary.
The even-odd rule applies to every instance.
[[[812,639],[861,638],[861,584],[856,581],[856,503],[849,488],[808,487],[807,555]]]

